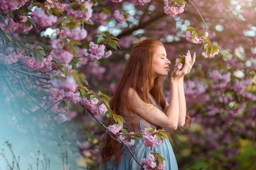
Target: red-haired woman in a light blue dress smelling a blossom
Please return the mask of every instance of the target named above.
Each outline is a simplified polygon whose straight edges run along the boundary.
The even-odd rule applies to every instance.
[[[188,51],[185,63],[178,65],[171,74],[170,102],[166,102],[163,95],[163,77],[168,75],[169,64],[163,44],[158,40],[148,39],[137,44],[131,52],[125,70],[116,85],[110,107],[114,113],[125,119],[124,128],[128,132],[143,131],[148,127],[156,129],[176,130],[183,127],[186,116],[186,101],[183,89],[183,77],[190,72],[195,62]],[[170,131],[169,131],[170,132]],[[105,147],[102,149],[102,164],[100,170],[141,170],[131,153],[122,144],[113,140],[106,133]],[[170,142],[173,144],[171,137]],[[158,151],[166,161],[165,170],[177,170],[177,161],[168,140],[158,146],[146,147],[141,140],[137,140],[130,147],[134,156],[142,164],[141,159]]]

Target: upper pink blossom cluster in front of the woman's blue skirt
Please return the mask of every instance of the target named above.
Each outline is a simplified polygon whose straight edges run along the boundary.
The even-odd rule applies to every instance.
[[[157,130],[154,130],[153,132],[148,131],[146,132],[146,128],[144,129],[144,134],[142,142],[145,144],[146,147],[153,147],[162,144],[162,141],[158,141],[158,137],[155,134],[158,132]]]

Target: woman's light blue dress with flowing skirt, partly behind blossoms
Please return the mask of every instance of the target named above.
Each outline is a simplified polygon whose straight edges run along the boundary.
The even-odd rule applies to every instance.
[[[160,108],[158,104],[157,104],[157,107]],[[160,109],[162,110],[162,108]],[[128,117],[126,113],[122,112],[122,114]],[[156,125],[151,124],[150,122],[146,121],[140,116],[134,116],[134,117],[138,117],[138,120],[139,120],[138,124],[140,127],[139,131],[142,134],[143,134],[143,127],[144,128],[148,128],[151,126],[156,127]],[[128,119],[127,120],[125,119],[125,122],[127,121]],[[146,123],[148,123],[149,125],[147,125]],[[125,127],[126,126],[124,125],[124,128]],[[111,160],[107,161],[106,163],[100,164],[99,170],[143,170],[143,168],[139,164],[137,164],[137,162],[134,160],[131,153],[128,151],[128,149],[125,146],[121,146],[120,149],[121,149],[122,157],[119,163],[118,164],[115,163],[115,158],[113,156]],[[135,151],[134,157],[137,159],[137,161],[139,161],[140,164],[143,164],[141,159],[143,158],[147,159],[148,155],[151,154],[150,152],[147,151],[148,149],[152,150],[153,152],[158,151],[160,155],[163,156],[163,158],[166,161],[166,167],[164,168],[164,170],[178,170],[177,161],[172,149],[172,145],[168,140],[164,140],[162,144],[154,147],[146,147],[145,144],[143,144],[141,139],[137,139],[137,142],[135,142],[132,150]]]

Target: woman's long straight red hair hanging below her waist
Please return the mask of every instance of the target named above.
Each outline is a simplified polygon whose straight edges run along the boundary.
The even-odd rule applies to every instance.
[[[163,46],[163,43],[159,40],[147,39],[137,44],[130,54],[125,69],[123,71],[120,81],[116,84],[113,98],[110,101],[110,108],[113,113],[120,115],[120,111],[126,111],[129,115],[134,113],[129,105],[130,101],[125,97],[128,95],[129,88],[133,88],[140,98],[146,102],[151,103],[151,99],[148,96],[149,93],[154,97],[161,108],[166,107],[166,100],[163,95],[163,80],[164,77],[157,77],[154,79],[153,71],[153,54],[157,46]],[[163,111],[166,113],[166,110]],[[122,115],[120,115],[122,116]],[[129,116],[133,119],[132,116]],[[191,125],[191,118],[186,116],[186,121]],[[113,122],[113,119],[109,121]],[[131,121],[132,122],[132,121]],[[134,125],[131,125],[134,131]],[[169,140],[174,145],[172,138],[174,133],[172,130],[167,131],[169,133]],[[171,137],[172,135],[172,137]],[[112,135],[114,138],[115,136]],[[121,159],[120,143],[112,139],[109,133],[106,133],[103,137],[105,141],[105,147],[102,149],[102,162],[109,161],[115,156],[116,164]]]

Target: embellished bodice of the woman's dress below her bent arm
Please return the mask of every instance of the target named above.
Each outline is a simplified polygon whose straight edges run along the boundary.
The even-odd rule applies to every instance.
[[[157,104],[157,107],[163,111],[163,109],[158,105],[157,101],[155,101]],[[151,122],[148,122],[147,120],[143,119],[140,115],[133,115],[133,119],[131,120],[130,116],[125,113],[125,112],[121,112],[122,113],[122,117],[125,119],[124,126],[123,128],[125,128],[126,130],[128,130],[128,132],[131,132],[131,125],[133,123],[134,125],[134,132],[135,133],[143,133],[144,128],[148,128],[148,127],[155,127],[157,129],[157,125],[154,125]],[[132,122],[131,122],[132,121]]]

